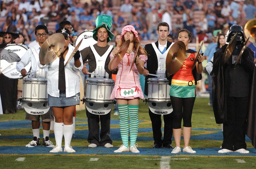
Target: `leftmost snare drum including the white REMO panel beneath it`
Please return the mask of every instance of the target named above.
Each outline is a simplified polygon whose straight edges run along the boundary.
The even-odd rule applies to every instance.
[[[24,78],[22,97],[24,109],[29,114],[45,114],[49,111],[47,79]]]

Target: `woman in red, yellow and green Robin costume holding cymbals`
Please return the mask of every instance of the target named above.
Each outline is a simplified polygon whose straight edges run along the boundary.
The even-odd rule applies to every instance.
[[[193,111],[194,102],[196,99],[196,78],[193,76],[192,67],[195,61],[197,52],[188,48],[188,43],[192,41],[192,33],[187,29],[182,29],[178,33],[178,40],[184,42],[186,46],[186,57],[180,70],[173,74],[170,88],[170,98],[173,108],[173,136],[175,140],[175,148],[172,153],[181,152],[180,137],[181,137],[181,120],[183,119],[183,138],[184,148],[183,152],[196,153],[189,146],[191,136],[191,116]],[[200,52],[200,51],[198,51]],[[201,74],[203,71],[202,62],[204,56],[201,54],[196,62],[195,72]]]

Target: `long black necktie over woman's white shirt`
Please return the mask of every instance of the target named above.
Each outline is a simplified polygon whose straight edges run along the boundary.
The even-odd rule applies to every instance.
[[[65,79],[65,67],[64,67],[64,57],[63,54],[66,52],[68,47],[60,54],[59,62],[59,90],[60,92],[65,92],[66,90],[66,79]]]

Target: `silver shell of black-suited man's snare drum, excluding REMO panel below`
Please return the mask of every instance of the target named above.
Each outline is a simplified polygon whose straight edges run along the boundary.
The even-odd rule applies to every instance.
[[[148,101],[170,102],[170,87],[167,78],[148,78]]]

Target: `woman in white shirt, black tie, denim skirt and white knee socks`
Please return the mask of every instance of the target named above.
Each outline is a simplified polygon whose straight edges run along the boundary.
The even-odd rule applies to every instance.
[[[66,28],[60,28],[56,33],[62,33],[65,37],[65,45],[60,56],[49,64],[38,62],[41,69],[48,68],[48,104],[52,107],[55,117],[54,135],[56,146],[50,152],[61,152],[62,137],[64,135],[64,152],[76,152],[70,146],[73,135],[73,114],[76,105],[80,101],[80,77],[77,72],[83,68],[80,52],[77,51],[74,58],[65,67],[75,47],[69,44],[70,32]]]

